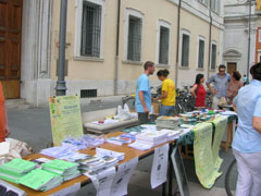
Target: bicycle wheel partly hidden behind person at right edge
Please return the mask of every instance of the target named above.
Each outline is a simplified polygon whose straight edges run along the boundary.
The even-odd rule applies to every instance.
[[[232,191],[236,189],[237,176],[238,176],[237,163],[236,159],[234,159],[231,162],[225,174],[225,189],[228,196],[233,196]]]

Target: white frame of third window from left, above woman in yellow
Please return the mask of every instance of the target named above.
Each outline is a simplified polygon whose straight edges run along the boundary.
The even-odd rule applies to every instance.
[[[171,23],[169,23],[167,21],[164,20],[158,20],[157,23],[157,63],[158,64],[162,64],[160,63],[160,29],[161,26],[169,28],[170,34],[169,34],[169,51],[167,51],[167,64],[170,64],[170,51],[171,51]]]

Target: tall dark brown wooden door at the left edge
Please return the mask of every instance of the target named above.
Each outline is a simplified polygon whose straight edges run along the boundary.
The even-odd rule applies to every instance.
[[[5,98],[20,98],[23,0],[0,0],[0,79]]]

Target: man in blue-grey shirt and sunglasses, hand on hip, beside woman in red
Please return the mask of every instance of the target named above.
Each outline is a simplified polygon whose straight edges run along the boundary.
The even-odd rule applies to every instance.
[[[231,75],[225,73],[225,65],[221,64],[219,66],[219,73],[211,75],[211,77],[206,82],[206,85],[210,91],[214,95],[212,108],[216,109],[217,103],[222,97],[226,97],[226,90],[228,83],[231,82]],[[213,83],[212,87],[210,84]]]

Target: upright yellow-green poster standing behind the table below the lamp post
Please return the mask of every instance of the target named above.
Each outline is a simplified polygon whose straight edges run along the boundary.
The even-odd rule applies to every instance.
[[[54,146],[84,135],[78,96],[50,97],[49,106]]]

